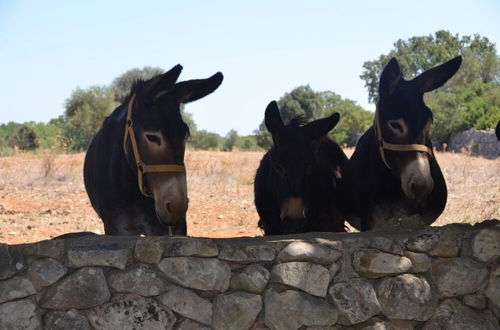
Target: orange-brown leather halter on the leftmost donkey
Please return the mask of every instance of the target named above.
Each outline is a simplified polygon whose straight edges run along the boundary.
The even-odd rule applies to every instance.
[[[137,146],[137,139],[135,138],[134,122],[132,121],[132,110],[135,101],[135,94],[132,95],[128,103],[127,109],[127,122],[125,124],[125,136],[123,137],[123,149],[125,154],[127,154],[127,139],[130,137],[130,143],[132,144],[132,151],[134,152],[134,158],[137,165],[137,180],[139,183],[139,189],[144,196],[151,197],[144,189],[144,174],[145,173],[159,173],[159,172],[177,172],[186,173],[186,168],[184,165],[173,165],[173,164],[161,164],[161,165],[147,165],[141,159],[141,154],[139,153],[139,148]]]

